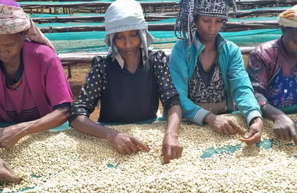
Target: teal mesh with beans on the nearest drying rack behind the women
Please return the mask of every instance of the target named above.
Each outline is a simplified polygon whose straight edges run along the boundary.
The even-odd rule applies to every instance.
[[[155,49],[172,48],[178,40],[173,31],[150,31],[150,33],[156,38],[152,45]],[[256,46],[262,42],[279,38],[282,31],[280,29],[259,29],[220,34],[238,46]],[[104,43],[105,31],[49,33],[45,36],[52,41],[57,53],[104,52],[108,50],[108,46]]]

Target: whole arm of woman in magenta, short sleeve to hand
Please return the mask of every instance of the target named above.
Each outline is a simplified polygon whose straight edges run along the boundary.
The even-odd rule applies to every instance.
[[[60,126],[67,121],[72,103],[72,93],[64,69],[59,58],[54,55],[48,58],[41,66],[44,75],[45,94],[53,112],[34,121],[9,126],[0,131],[0,147],[10,149],[20,138]]]

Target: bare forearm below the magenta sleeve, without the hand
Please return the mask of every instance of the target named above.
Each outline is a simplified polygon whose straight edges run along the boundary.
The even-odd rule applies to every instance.
[[[16,126],[20,126],[24,128],[22,131],[23,136],[40,132],[40,131],[45,131],[48,129],[53,129],[67,121],[69,110],[70,110],[70,107],[61,107],[35,121],[20,123],[20,124],[17,124]]]

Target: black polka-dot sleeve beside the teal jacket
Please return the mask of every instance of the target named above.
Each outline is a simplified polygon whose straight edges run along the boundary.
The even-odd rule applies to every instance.
[[[173,85],[165,53],[163,51],[151,52],[150,56],[157,75],[159,98],[163,108],[168,111],[173,105],[181,106],[179,93]]]

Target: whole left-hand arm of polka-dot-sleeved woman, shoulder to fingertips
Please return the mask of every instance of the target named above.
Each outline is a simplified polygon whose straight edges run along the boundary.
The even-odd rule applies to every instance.
[[[93,58],[92,69],[86,76],[86,83],[69,113],[70,125],[79,132],[110,141],[122,154],[131,154],[133,151],[137,151],[138,147],[149,151],[145,144],[133,136],[117,132],[89,119],[105,90],[105,67],[105,62],[101,62],[99,57]]]

